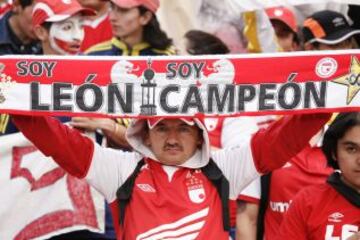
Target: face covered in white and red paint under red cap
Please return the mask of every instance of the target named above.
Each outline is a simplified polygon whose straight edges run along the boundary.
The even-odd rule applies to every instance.
[[[54,22],[50,27],[50,45],[63,55],[79,53],[84,40],[83,18],[80,14],[74,15],[61,22]]]

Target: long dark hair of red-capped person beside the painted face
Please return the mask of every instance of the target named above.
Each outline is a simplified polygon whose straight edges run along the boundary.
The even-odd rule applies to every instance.
[[[143,15],[146,12],[150,11],[146,7],[138,7],[140,14]],[[155,14],[152,14],[152,18],[147,25],[144,27],[143,32],[144,41],[149,43],[151,47],[157,48],[160,50],[165,50],[172,45],[172,40],[167,36],[167,34],[161,30],[160,23],[156,18]]]

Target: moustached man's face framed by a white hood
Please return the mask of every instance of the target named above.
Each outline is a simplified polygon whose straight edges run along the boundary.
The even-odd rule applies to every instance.
[[[155,157],[165,165],[181,165],[202,145],[201,131],[180,119],[164,119],[144,138]]]

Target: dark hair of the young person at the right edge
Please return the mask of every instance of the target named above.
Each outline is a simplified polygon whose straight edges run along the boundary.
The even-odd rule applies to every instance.
[[[360,125],[360,112],[340,113],[325,132],[322,150],[326,156],[328,165],[339,169],[337,156],[337,143],[352,127]]]

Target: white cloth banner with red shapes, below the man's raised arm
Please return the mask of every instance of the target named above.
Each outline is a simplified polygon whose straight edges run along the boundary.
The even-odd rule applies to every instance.
[[[104,232],[104,198],[67,175],[21,133],[0,137],[0,239]]]

